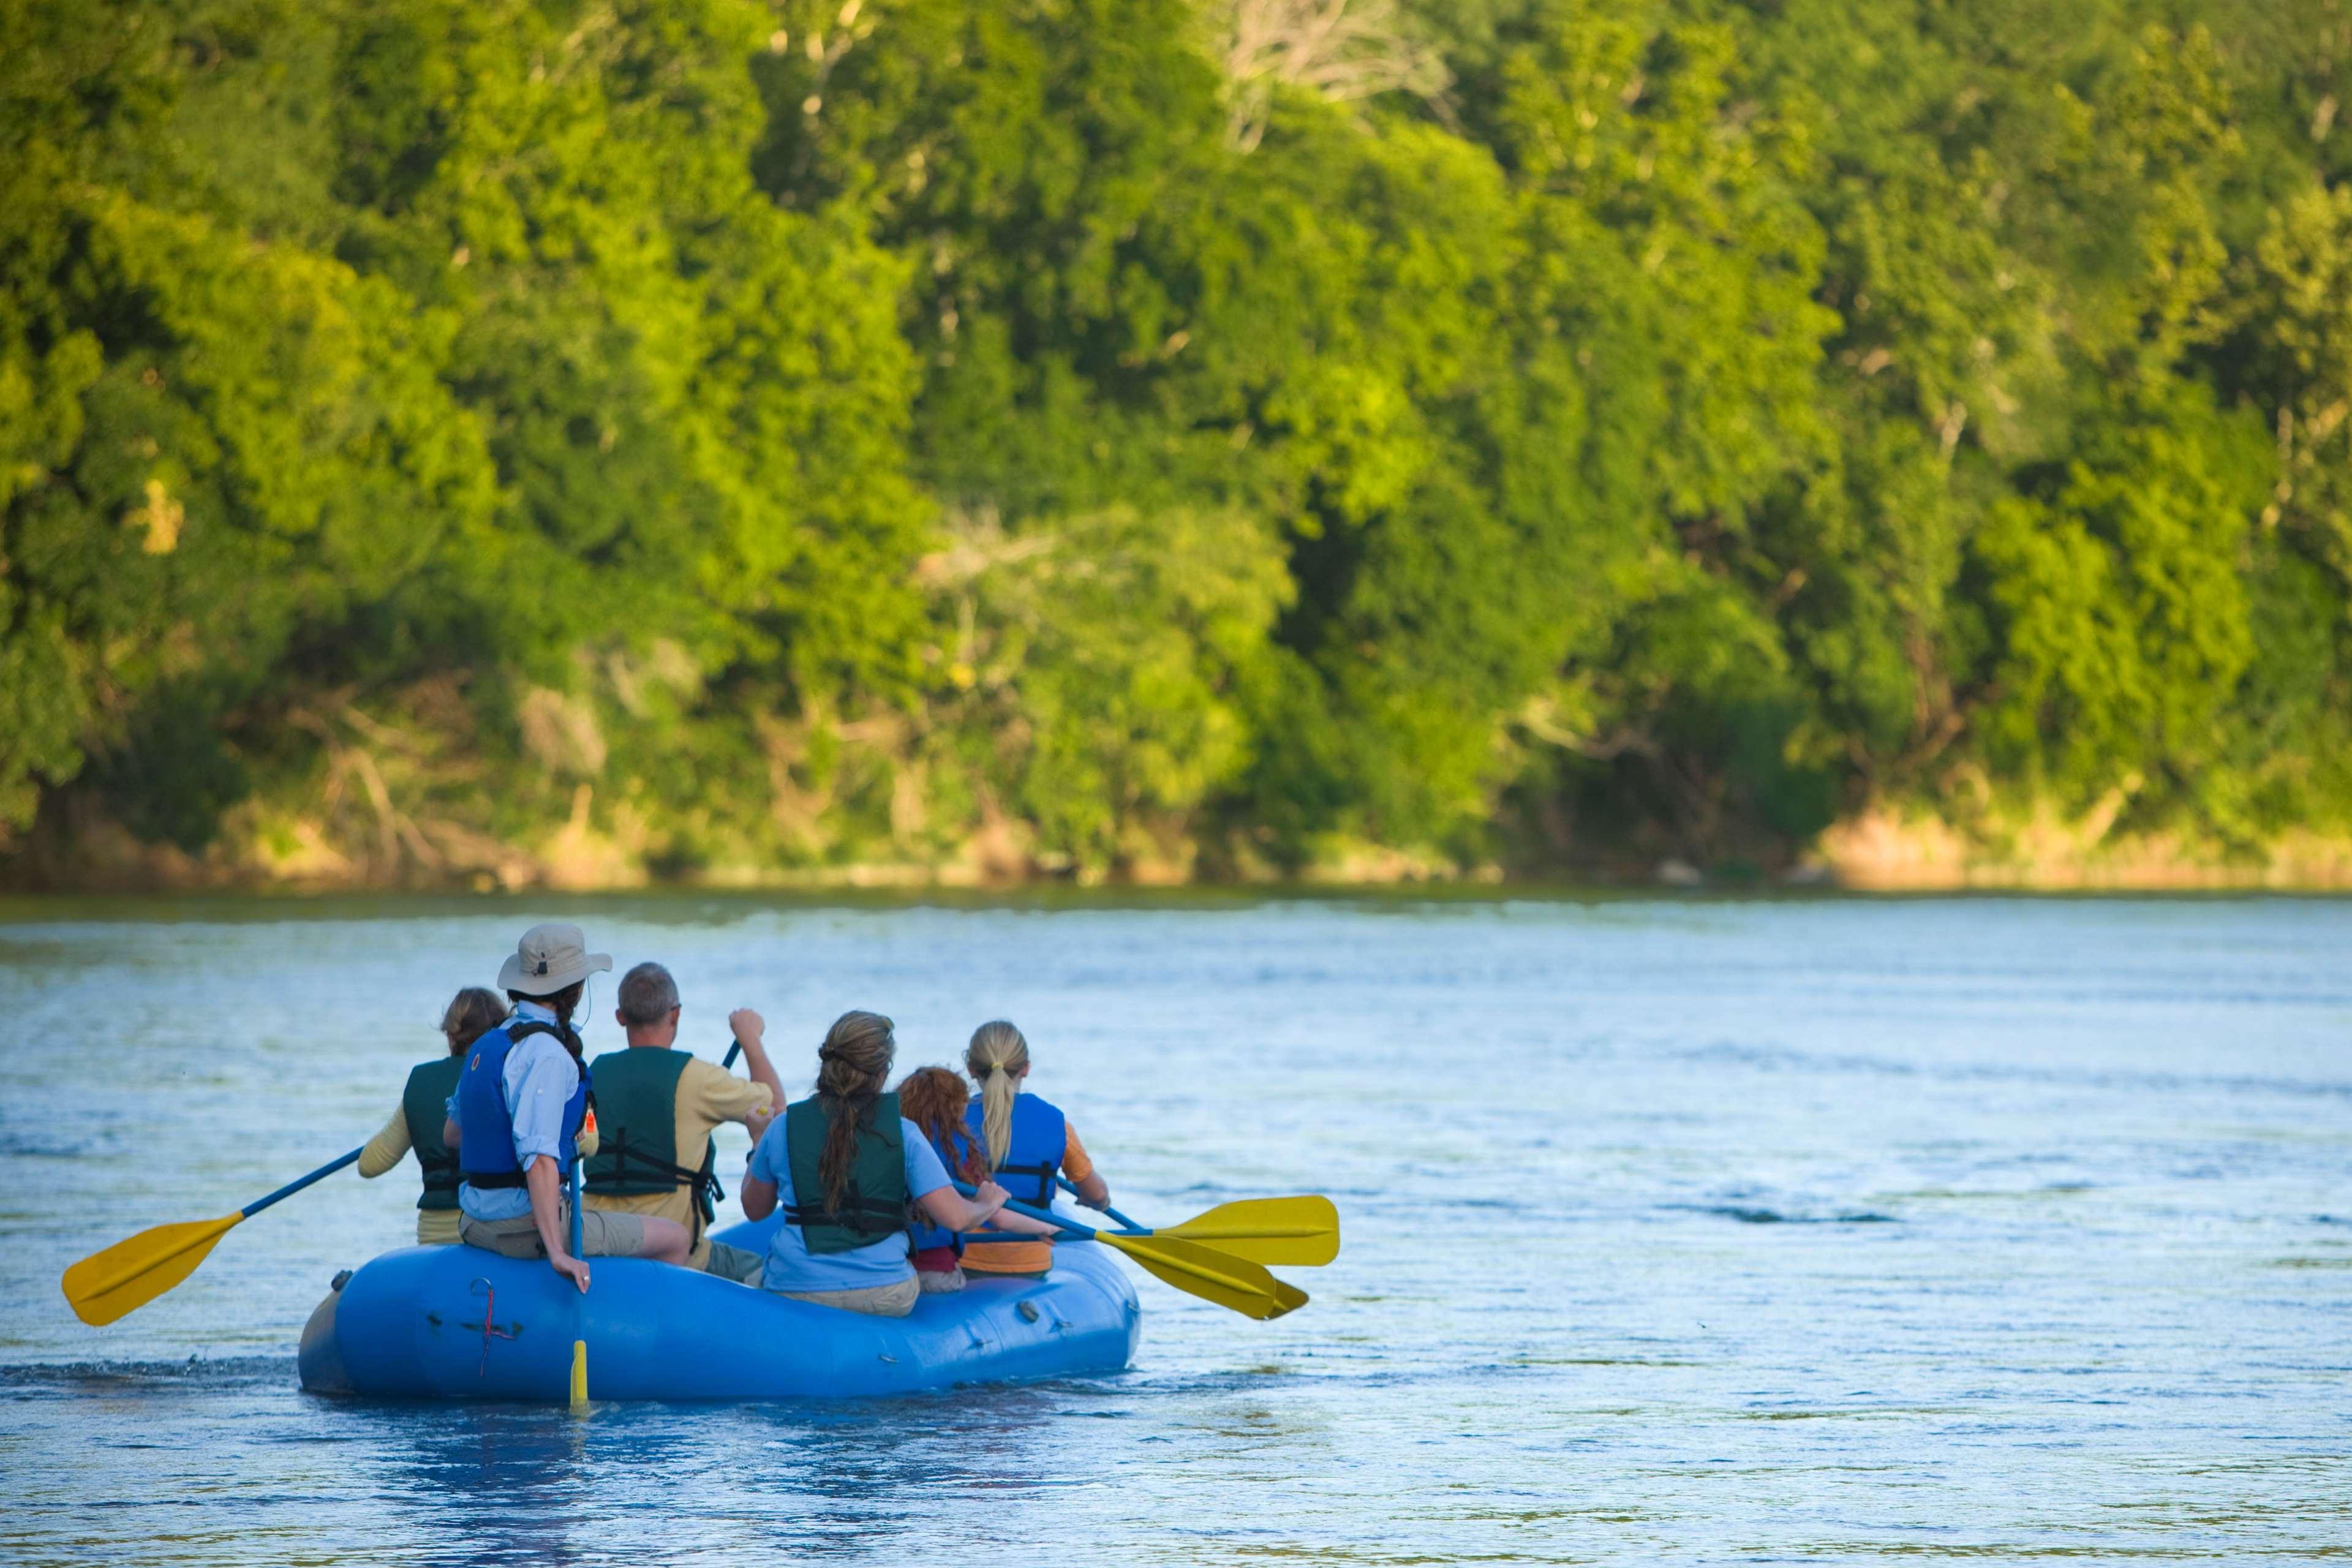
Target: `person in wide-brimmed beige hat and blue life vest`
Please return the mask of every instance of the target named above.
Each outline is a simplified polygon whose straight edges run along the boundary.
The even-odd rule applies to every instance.
[[[442,1126],[442,1143],[459,1152],[459,1239],[506,1258],[546,1258],[581,1291],[586,1258],[687,1260],[684,1225],[635,1213],[583,1211],[586,1258],[567,1246],[564,1180],[586,1143],[593,1088],[572,1016],[588,976],[609,969],[612,954],[588,952],[579,926],[546,922],[524,931],[499,971],[515,1011],[466,1051]]]

